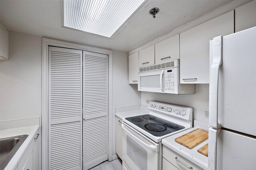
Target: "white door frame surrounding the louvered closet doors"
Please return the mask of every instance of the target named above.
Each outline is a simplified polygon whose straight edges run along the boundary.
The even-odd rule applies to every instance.
[[[42,170],[48,170],[48,46],[64,47],[108,55],[108,160],[112,160],[112,51],[42,38]]]

